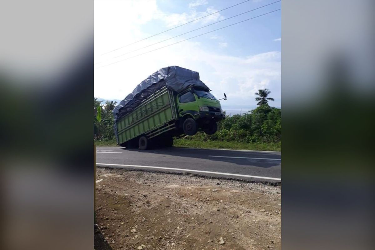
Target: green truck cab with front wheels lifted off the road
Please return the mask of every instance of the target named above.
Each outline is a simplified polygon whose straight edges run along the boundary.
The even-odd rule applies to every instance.
[[[212,135],[217,130],[216,122],[225,118],[220,101],[207,89],[187,88],[177,94],[176,103],[180,129],[186,135],[195,135],[199,129]]]

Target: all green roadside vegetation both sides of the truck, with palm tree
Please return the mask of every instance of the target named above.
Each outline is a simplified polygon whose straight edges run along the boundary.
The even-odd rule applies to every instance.
[[[259,90],[256,94],[257,108],[226,117],[218,123],[217,132],[213,135],[198,132],[194,136],[175,139],[174,146],[281,151],[281,109],[269,106],[269,100],[273,101],[268,97],[269,90]],[[98,122],[98,112],[94,117],[94,142],[97,146],[117,146],[112,115],[115,104],[107,101],[100,106],[100,101],[94,97],[94,108],[102,109],[102,120]]]

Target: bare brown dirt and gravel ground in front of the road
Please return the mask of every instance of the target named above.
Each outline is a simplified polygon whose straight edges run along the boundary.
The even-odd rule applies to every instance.
[[[97,168],[96,220],[98,250],[281,249],[281,186]]]

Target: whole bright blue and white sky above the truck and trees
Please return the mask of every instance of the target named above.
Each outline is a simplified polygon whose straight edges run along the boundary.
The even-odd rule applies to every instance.
[[[176,65],[199,72],[217,98],[226,93],[223,106],[255,106],[255,93],[268,88],[275,99],[270,105],[281,107],[280,10],[148,52],[280,9],[281,2],[160,42],[276,1],[250,0],[129,45],[243,1],[94,1],[94,96],[122,100],[151,73]]]

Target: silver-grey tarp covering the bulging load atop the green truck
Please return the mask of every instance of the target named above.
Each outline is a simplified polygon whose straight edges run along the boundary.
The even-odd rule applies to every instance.
[[[199,80],[198,72],[178,66],[165,67],[157,70],[138,84],[133,92],[128,94],[125,99],[113,109],[112,112],[115,121],[120,120],[124,115],[135,109],[142,100],[165,85],[177,93],[192,85],[209,90],[209,88]]]

